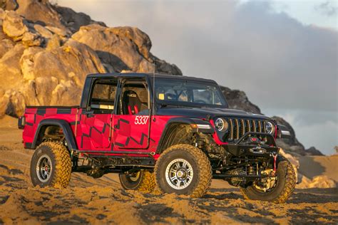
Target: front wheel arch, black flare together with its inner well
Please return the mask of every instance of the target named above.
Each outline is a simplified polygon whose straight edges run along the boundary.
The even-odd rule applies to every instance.
[[[201,129],[196,127],[195,125],[209,125],[210,128],[208,129]],[[175,130],[178,130],[178,128],[185,127],[189,130],[192,134],[195,132],[203,132],[203,133],[213,133],[214,130],[212,128],[212,125],[210,122],[198,118],[189,118],[189,117],[175,117],[170,120],[168,120],[167,124],[165,125],[165,128],[163,130],[163,133],[160,137],[160,141],[158,142],[158,147],[156,150],[157,154],[162,153],[165,149],[170,147],[171,145],[177,145],[177,144],[183,144],[180,142],[175,142],[175,138],[177,138]],[[181,130],[181,129],[180,129]],[[171,144],[171,145],[170,145]]]

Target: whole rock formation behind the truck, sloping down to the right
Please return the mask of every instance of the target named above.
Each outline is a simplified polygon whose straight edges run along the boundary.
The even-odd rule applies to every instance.
[[[26,105],[78,105],[88,73],[135,71],[182,75],[174,64],[150,53],[149,36],[132,27],[103,22],[48,0],[0,2],[0,117],[19,116]],[[222,87],[230,107],[261,114],[240,90]],[[286,152],[306,155],[292,127]]]

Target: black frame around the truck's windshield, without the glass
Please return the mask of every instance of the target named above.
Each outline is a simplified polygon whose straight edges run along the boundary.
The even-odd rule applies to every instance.
[[[174,76],[174,75],[173,75]],[[223,102],[223,105],[213,105],[213,104],[203,104],[203,103],[190,103],[190,102],[184,102],[184,101],[177,101],[177,100],[159,100],[156,96],[154,85],[153,85],[153,78],[149,77],[149,83],[151,86],[151,95],[152,101],[155,101],[156,105],[163,106],[182,106],[182,107],[193,107],[193,108],[229,108],[229,104],[227,103],[227,100],[225,96],[222,93],[222,90],[220,89],[220,86],[213,80],[195,80],[193,78],[180,78],[179,76],[169,78],[169,77],[160,77],[160,75],[155,76],[155,86],[157,80],[182,80],[184,82],[187,80],[187,82],[194,82],[194,83],[200,83],[201,85],[212,85],[216,88],[217,92],[220,93],[220,100]],[[155,98],[154,98],[155,97]]]

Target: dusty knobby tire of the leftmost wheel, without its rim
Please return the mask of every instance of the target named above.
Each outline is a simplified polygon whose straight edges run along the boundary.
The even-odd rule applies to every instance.
[[[47,155],[51,159],[51,174],[45,182],[41,182],[37,173],[40,157]],[[71,179],[71,157],[67,148],[57,142],[43,142],[36,148],[31,158],[31,182],[40,187],[66,188]]]

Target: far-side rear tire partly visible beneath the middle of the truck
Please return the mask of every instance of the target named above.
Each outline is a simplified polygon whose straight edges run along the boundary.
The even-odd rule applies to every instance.
[[[136,190],[138,192],[153,192],[155,189],[155,177],[154,173],[145,169],[140,170],[140,175],[136,181],[132,181],[128,178],[127,174],[119,174],[120,183],[123,189]]]

